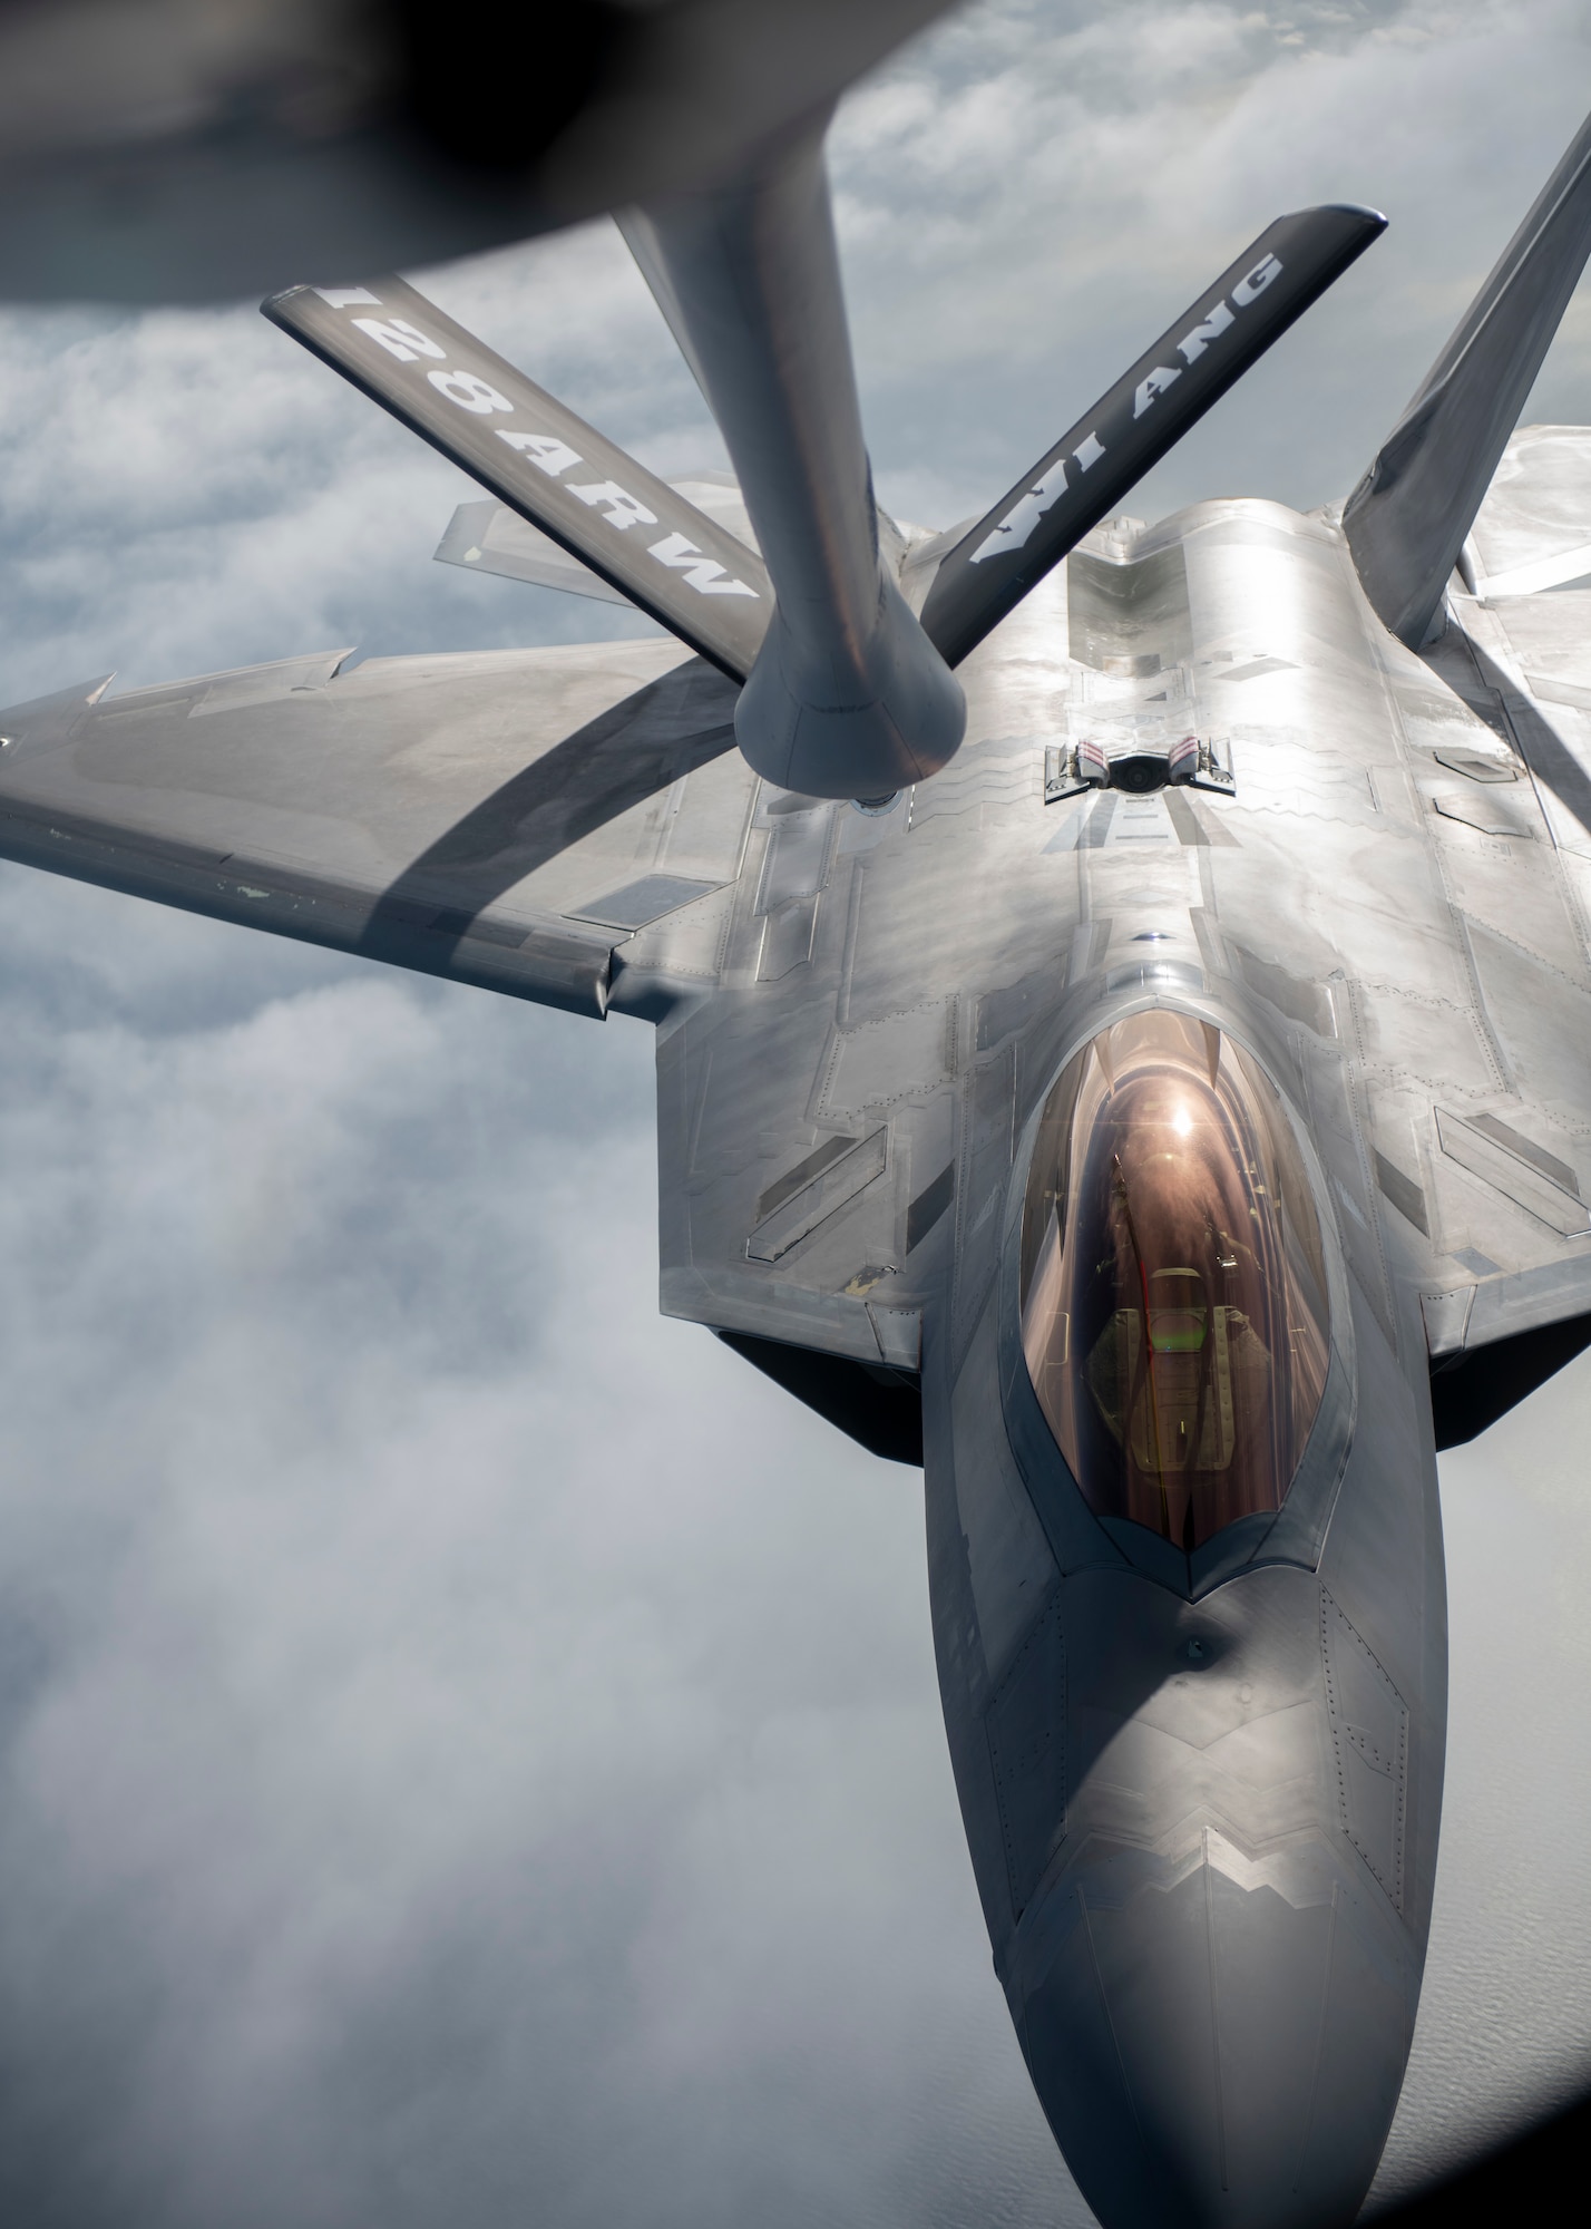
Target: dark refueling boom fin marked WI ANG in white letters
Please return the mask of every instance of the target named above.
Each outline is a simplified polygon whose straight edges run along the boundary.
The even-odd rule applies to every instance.
[[[923,629],[945,662],[960,664],[1384,230],[1375,210],[1326,207],[1261,232],[943,557]]]

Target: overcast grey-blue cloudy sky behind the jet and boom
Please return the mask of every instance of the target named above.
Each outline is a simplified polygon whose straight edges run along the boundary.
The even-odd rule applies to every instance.
[[[992,499],[1275,214],[1370,256],[1134,497],[1346,493],[1591,7],[998,4],[845,107],[882,499]],[[310,274],[363,276],[363,274]],[[611,227],[421,274],[722,459]],[[1591,305],[1531,410],[1591,419]],[[0,702],[637,631],[252,308],[0,319]],[[938,1721],[916,1473],[655,1313],[651,1039],[0,869],[0,2216],[1083,2222]],[[1591,1366],[1444,1460],[1395,2189],[1591,2073]]]

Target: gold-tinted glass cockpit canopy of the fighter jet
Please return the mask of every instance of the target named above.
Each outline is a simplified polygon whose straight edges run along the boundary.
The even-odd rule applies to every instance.
[[[1321,1230],[1281,1099],[1150,1012],[1050,1092],[1023,1208],[1023,1353],[1099,1516],[1194,1549],[1279,1509],[1326,1389]]]

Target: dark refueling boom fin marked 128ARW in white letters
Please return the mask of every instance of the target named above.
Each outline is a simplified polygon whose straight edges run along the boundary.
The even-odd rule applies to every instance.
[[[767,566],[595,426],[401,279],[296,285],[261,310],[631,604],[744,682],[773,613]]]

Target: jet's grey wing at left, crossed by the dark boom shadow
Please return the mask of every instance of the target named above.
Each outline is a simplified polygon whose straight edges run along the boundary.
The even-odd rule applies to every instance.
[[[755,778],[675,642],[294,658],[0,713],[0,856],[602,1016],[711,967]]]

